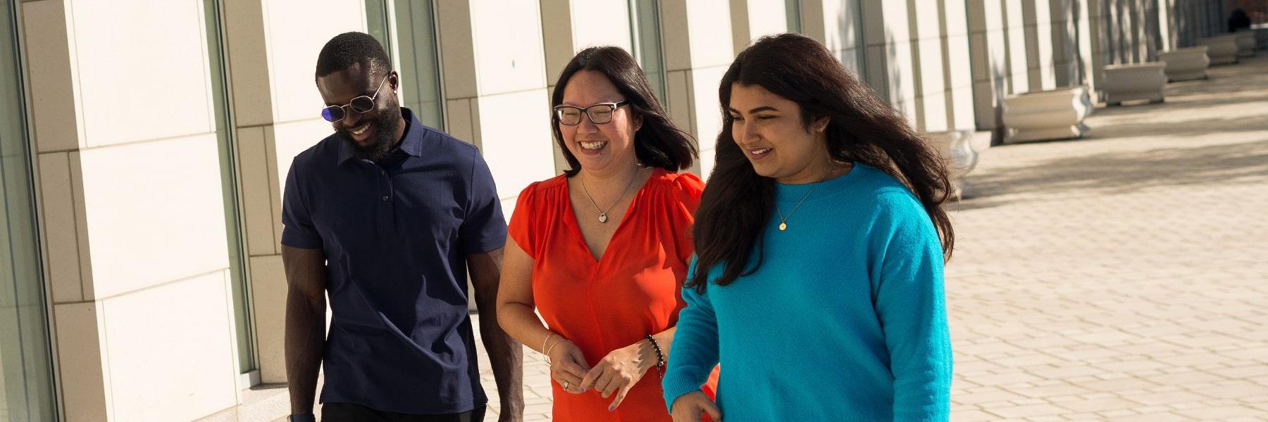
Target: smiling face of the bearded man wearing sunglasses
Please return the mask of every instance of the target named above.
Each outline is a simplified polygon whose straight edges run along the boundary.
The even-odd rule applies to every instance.
[[[397,74],[375,71],[374,67],[377,66],[353,65],[318,77],[317,90],[326,105],[346,105],[361,95],[374,96],[374,109],[358,113],[351,106],[345,106],[344,119],[332,125],[359,158],[377,161],[387,156],[404,136],[404,119],[396,98]]]

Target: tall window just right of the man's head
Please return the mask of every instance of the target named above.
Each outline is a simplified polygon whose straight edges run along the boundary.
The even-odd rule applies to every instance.
[[[401,105],[422,124],[445,129],[436,15],[431,0],[366,0],[369,34],[387,48],[401,74]]]

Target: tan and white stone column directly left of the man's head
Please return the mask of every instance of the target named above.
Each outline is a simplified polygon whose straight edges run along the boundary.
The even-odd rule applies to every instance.
[[[366,30],[356,0],[224,0],[256,350],[264,383],[284,383],[287,280],[281,194],[295,155],[332,133],[321,118],[317,54],[330,38]]]

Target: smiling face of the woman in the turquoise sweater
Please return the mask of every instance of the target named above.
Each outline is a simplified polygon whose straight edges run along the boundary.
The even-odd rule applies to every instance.
[[[824,179],[832,158],[825,131],[828,118],[805,124],[801,106],[761,85],[732,84],[730,136],[758,175],[781,184]]]

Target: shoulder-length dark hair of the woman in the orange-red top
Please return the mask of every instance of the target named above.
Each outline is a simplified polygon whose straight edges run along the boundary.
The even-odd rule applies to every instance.
[[[628,106],[643,117],[643,127],[634,132],[634,155],[639,162],[668,171],[691,167],[696,157],[695,142],[691,141],[691,136],[673,125],[661,100],[652,93],[647,74],[643,74],[634,57],[620,47],[590,47],[578,52],[559,74],[559,81],[550,95],[552,109],[563,103],[563,89],[572,75],[583,70],[607,76],[630,103]],[[581,171],[581,162],[564,144],[563,134],[559,133],[559,117],[554,113],[550,113],[550,131],[554,132],[555,143],[563,151],[563,157],[568,160],[569,169],[564,170],[564,174],[576,175]]]

